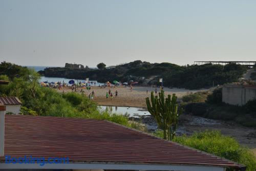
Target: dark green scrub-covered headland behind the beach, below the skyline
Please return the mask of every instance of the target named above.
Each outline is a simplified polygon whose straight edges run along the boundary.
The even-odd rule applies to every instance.
[[[247,70],[246,66],[236,63],[229,63],[225,66],[212,65],[211,63],[201,66],[178,66],[168,62],[150,63],[141,60],[124,63],[109,69],[105,69],[104,63],[99,63],[97,67],[98,69],[47,68],[39,73],[49,77],[75,79],[90,77],[99,82],[112,80],[127,82],[132,79],[140,83],[157,86],[160,86],[158,80],[161,77],[164,79],[165,87],[200,89],[212,87],[212,83],[221,85],[227,82],[237,82]],[[155,79],[150,82],[143,79],[143,77],[151,78],[152,76]]]

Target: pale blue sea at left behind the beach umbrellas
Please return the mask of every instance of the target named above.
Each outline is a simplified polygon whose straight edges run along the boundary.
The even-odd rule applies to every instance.
[[[34,69],[36,72],[38,71],[41,71],[41,70],[44,70],[45,68],[49,68],[49,66],[26,66],[28,68],[31,68],[31,69]],[[61,78],[61,77],[45,77],[45,76],[41,76],[41,79],[40,79],[40,82],[66,82],[68,83],[70,80],[74,80],[75,82],[83,82],[83,81],[86,81],[86,78],[84,79],[70,79],[70,78]],[[89,81],[90,82],[93,82],[93,86],[94,86],[94,82],[95,82],[95,86],[100,86],[102,85],[103,83],[101,82],[98,82],[97,80],[90,80],[89,78]]]

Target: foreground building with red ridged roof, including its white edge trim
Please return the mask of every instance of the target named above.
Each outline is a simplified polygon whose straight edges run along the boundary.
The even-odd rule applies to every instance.
[[[246,166],[239,163],[105,120],[28,115],[4,117],[3,110],[0,108],[2,169],[246,169]],[[20,163],[6,163],[5,156],[11,156],[15,162],[24,156],[43,157],[48,162],[30,163],[29,160],[25,162],[19,159]],[[49,158],[53,157],[68,157],[69,162],[49,163]]]

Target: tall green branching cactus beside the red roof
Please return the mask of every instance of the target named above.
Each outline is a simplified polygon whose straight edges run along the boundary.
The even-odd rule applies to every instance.
[[[158,127],[163,130],[164,139],[172,140],[176,134],[178,124],[177,96],[168,95],[164,98],[164,91],[159,92],[159,97],[151,92],[150,98],[146,98],[147,110],[156,119]]]

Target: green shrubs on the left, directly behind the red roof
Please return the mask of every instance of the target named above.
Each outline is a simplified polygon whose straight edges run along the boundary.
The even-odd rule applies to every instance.
[[[0,96],[18,97],[22,101],[20,112],[23,115],[96,118],[133,126],[127,116],[99,112],[97,104],[86,96],[61,94],[54,89],[40,87],[40,77],[34,70],[2,62],[0,73],[0,80],[9,81],[8,85],[0,85]]]

